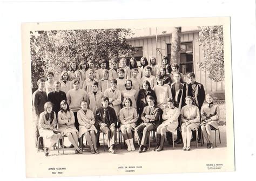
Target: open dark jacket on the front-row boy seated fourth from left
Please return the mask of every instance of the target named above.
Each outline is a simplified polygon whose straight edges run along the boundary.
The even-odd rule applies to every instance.
[[[107,124],[107,127],[109,127],[112,123],[114,123],[114,125],[117,126],[117,115],[116,112],[114,111],[114,109],[112,107],[107,107],[107,112],[109,112],[109,114],[106,116],[106,119],[109,120],[110,124]],[[101,123],[106,123],[105,119],[103,117],[104,115],[104,108],[100,107],[96,110],[96,115],[95,115],[95,126],[96,127],[100,127]]]

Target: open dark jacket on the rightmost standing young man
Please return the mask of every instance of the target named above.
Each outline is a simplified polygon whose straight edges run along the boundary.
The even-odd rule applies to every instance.
[[[186,95],[193,97],[193,105],[196,105],[199,110],[203,106],[205,100],[205,89],[201,83],[194,82],[194,87],[192,88],[191,83],[186,85]]]

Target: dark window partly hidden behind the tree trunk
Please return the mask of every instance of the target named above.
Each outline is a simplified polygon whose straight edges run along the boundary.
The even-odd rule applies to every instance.
[[[167,56],[171,60],[171,44],[167,44]],[[193,44],[192,42],[180,43],[180,65],[179,72],[193,72]]]

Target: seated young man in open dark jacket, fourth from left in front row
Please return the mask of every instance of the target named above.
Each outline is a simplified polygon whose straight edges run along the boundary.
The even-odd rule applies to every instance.
[[[96,110],[96,123],[99,129],[106,135],[109,152],[115,154],[114,141],[116,140],[117,115],[112,107],[109,106],[109,98],[102,98],[102,107]]]

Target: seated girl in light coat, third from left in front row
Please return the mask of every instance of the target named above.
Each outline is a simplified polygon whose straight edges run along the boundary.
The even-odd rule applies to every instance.
[[[81,108],[77,112],[79,122],[79,137],[85,134],[87,143],[90,146],[91,154],[99,154],[96,145],[97,129],[95,127],[95,118],[91,110],[87,109],[87,102],[81,101]]]

